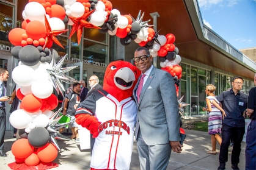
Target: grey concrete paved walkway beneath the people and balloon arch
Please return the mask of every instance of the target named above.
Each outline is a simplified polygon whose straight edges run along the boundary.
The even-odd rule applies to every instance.
[[[5,146],[4,150],[8,157],[0,157],[0,169],[9,169],[8,164],[14,161],[12,152],[10,151],[15,139],[12,138],[12,132],[7,131],[5,133]],[[79,143],[75,141],[59,141],[61,152],[54,161],[59,164],[58,168],[54,170],[87,170],[90,169],[90,151],[80,151]],[[241,170],[245,169],[245,155],[244,149],[246,143],[242,143],[242,150],[240,155],[240,167]],[[219,144],[217,144],[217,154],[210,155],[207,151],[211,149],[210,135],[207,132],[199,132],[195,130],[186,130],[186,140],[181,154],[172,153],[170,155],[170,161],[168,170],[179,169],[179,170],[196,170],[196,169],[213,169],[216,170],[219,166]],[[232,147],[230,146],[230,151]],[[229,152],[229,161],[226,164],[226,169],[231,170],[231,152]],[[133,155],[131,157],[131,170],[139,168],[139,157],[134,142]]]

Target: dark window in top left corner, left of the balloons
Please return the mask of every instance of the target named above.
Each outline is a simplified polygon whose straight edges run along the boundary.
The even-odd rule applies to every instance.
[[[0,3],[0,44],[12,46],[8,39],[10,30],[13,29],[13,10],[14,7]]]

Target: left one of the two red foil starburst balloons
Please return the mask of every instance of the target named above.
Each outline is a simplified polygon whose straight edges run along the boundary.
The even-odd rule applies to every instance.
[[[46,27],[46,38],[45,38],[45,45],[43,46],[43,49],[45,49],[46,45],[49,43],[49,40],[52,40],[54,43],[58,44],[60,47],[64,49],[62,44],[60,44],[59,40],[57,40],[55,36],[60,35],[64,32],[67,32],[68,29],[51,30],[51,26],[49,26],[49,22],[46,16],[45,16],[45,27]]]

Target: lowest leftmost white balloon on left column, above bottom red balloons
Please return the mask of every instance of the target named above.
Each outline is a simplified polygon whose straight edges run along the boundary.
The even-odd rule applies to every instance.
[[[18,109],[10,114],[9,121],[16,129],[24,129],[32,122],[32,118],[23,109]]]

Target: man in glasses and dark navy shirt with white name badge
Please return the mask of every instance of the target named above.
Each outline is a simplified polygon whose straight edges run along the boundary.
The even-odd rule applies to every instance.
[[[223,91],[216,97],[219,102],[222,102],[222,107],[225,110],[221,129],[222,143],[218,170],[225,169],[225,163],[228,160],[230,138],[234,142],[231,156],[232,169],[239,170],[238,163],[240,162],[241,142],[244,136],[244,115],[246,113],[248,97],[247,94],[240,92],[242,87],[243,78],[233,77],[232,89],[230,91]]]

